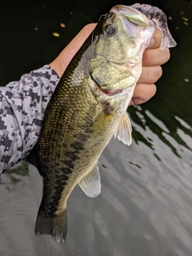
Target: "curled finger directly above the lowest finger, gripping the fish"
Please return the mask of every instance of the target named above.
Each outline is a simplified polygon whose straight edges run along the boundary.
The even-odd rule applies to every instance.
[[[138,83],[154,83],[162,76],[161,66],[142,66],[142,74],[138,79]]]

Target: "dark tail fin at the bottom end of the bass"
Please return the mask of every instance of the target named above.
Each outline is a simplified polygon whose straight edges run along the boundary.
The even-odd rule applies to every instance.
[[[40,211],[38,212],[38,218],[35,225],[35,234],[50,234],[52,238],[58,243],[62,243],[66,239],[67,222],[66,222],[66,210],[62,215],[47,217]]]

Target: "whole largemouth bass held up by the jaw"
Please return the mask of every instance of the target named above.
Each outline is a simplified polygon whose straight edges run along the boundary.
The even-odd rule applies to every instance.
[[[153,9],[155,8],[155,9]],[[139,10],[145,10],[142,14]],[[66,201],[77,184],[91,198],[101,190],[98,158],[112,136],[131,143],[126,113],[142,71],[142,54],[162,30],[161,48],[175,46],[160,11],[114,6],[74,56],[54,91],[28,161],[43,177],[35,234],[66,239]],[[162,18],[163,17],[163,18]]]

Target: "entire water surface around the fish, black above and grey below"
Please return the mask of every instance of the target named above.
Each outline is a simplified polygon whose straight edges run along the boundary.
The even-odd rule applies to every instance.
[[[49,63],[82,26],[96,22],[117,3],[1,1],[0,84]],[[129,108],[132,145],[113,139],[103,152],[98,198],[74,189],[62,245],[49,236],[34,236],[42,197],[38,171],[22,165],[3,174],[1,256],[192,255],[192,3],[153,3],[172,18],[170,30],[178,46],[163,66],[155,97]],[[189,18],[188,25],[183,18]],[[65,29],[60,22],[66,23]],[[53,32],[61,37],[54,38]]]

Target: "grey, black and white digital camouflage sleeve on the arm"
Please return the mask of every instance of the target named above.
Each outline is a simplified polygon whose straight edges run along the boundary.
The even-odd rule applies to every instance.
[[[48,65],[0,87],[0,175],[37,142],[58,74]]]

